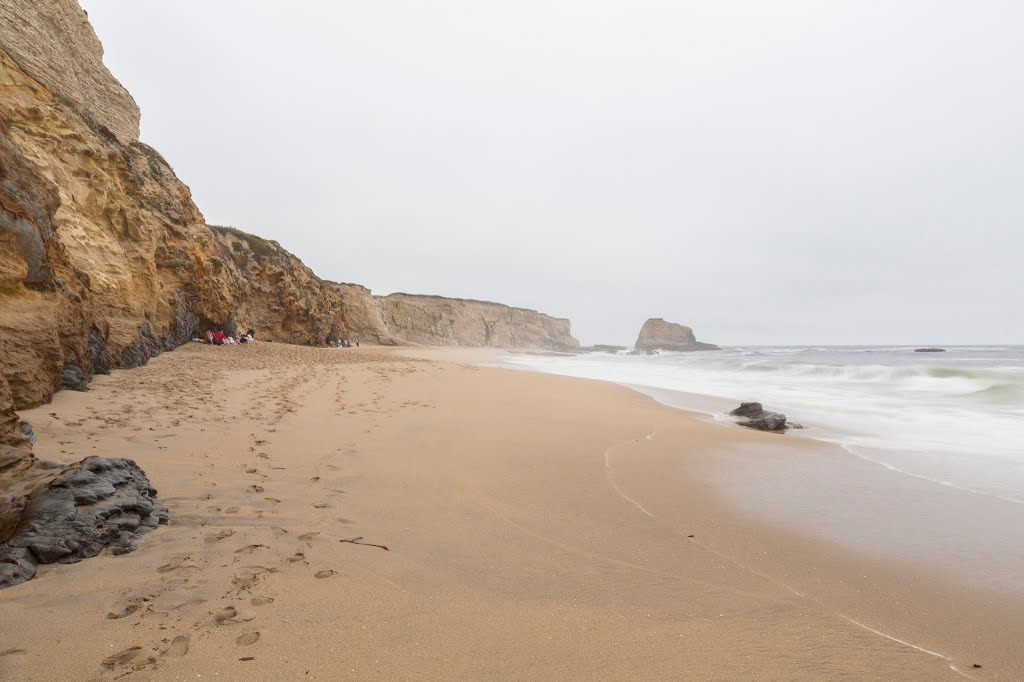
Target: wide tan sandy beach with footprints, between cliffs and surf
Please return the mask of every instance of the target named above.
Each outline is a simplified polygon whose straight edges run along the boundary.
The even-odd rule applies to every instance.
[[[759,513],[779,471],[839,516],[915,483],[485,352],[188,344],[24,411],[171,522],[0,592],[0,678],[1024,675],[1019,595]]]

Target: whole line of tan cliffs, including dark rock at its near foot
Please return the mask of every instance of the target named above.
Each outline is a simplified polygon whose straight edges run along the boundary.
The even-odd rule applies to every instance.
[[[36,461],[15,410],[85,390],[94,375],[143,365],[193,333],[579,345],[567,321],[378,299],[321,280],[275,242],[208,226],[188,187],[139,141],[138,106],[102,53],[76,0],[0,0],[0,585],[38,562],[130,549],[166,518],[131,462]]]

